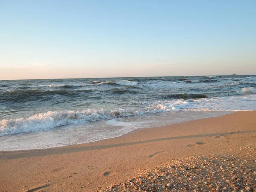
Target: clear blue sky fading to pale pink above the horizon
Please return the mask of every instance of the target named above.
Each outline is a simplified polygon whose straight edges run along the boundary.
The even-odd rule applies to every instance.
[[[256,74],[255,0],[0,0],[0,79]]]

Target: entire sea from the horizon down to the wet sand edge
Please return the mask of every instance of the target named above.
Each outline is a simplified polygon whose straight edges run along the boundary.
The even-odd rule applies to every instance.
[[[0,150],[51,148],[256,110],[256,76],[0,81]]]

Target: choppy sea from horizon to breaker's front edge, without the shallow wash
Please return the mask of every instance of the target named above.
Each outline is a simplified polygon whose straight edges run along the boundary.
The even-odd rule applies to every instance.
[[[0,81],[0,136],[166,111],[255,110],[255,79],[251,75]]]

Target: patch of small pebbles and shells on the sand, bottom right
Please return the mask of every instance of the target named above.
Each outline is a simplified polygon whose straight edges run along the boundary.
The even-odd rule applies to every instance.
[[[248,151],[246,157],[186,157],[140,170],[136,177],[112,185],[115,186],[112,188],[99,188],[98,192],[253,192],[256,190],[255,159],[254,150]]]

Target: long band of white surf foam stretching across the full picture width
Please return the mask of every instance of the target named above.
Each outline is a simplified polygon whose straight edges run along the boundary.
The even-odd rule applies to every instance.
[[[178,99],[148,103],[145,108],[118,108],[112,111],[48,111],[30,116],[27,119],[3,119],[0,121],[0,136],[23,132],[51,130],[63,125],[84,124],[104,119],[115,119],[125,116],[139,116],[143,114],[170,111],[243,111],[256,110],[256,95],[241,94],[256,93],[253,87],[243,88],[238,92],[240,96],[218,96],[203,99]]]

